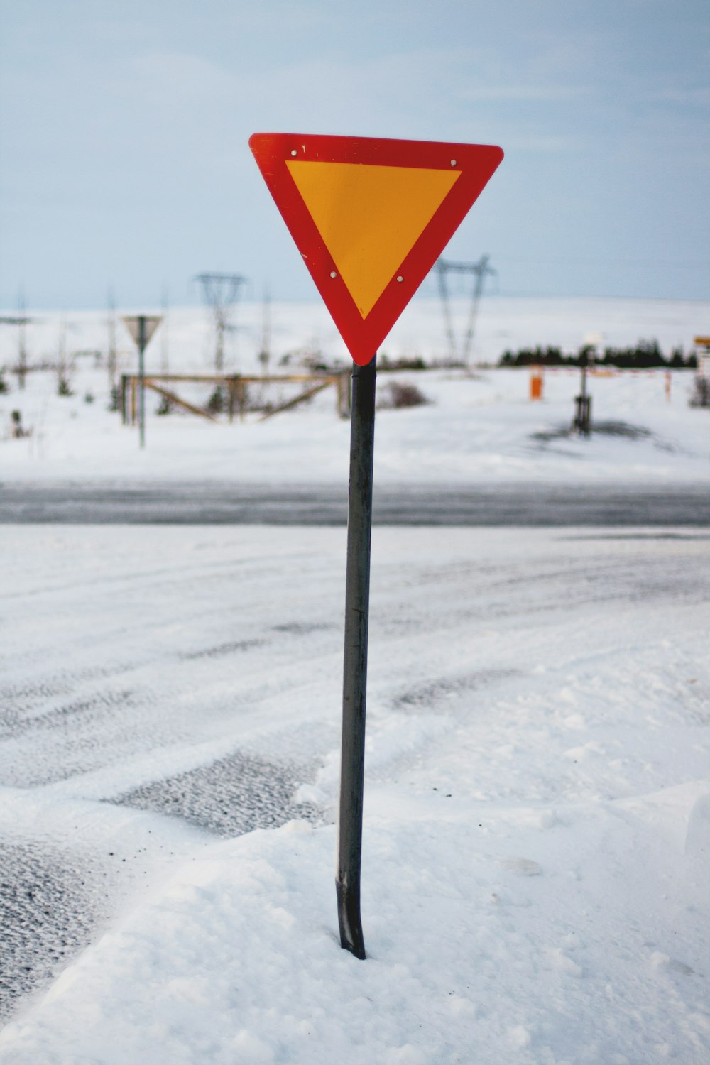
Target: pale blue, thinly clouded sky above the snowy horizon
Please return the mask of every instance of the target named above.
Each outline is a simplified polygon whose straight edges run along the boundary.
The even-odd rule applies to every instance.
[[[710,298],[707,0],[4,0],[0,306],[315,298],[247,141],[499,144],[501,293]],[[433,288],[431,289],[433,291]]]

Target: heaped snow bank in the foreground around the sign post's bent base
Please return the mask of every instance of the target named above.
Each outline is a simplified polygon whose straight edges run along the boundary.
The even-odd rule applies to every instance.
[[[0,1060],[700,1065],[707,855],[690,875],[649,813],[680,830],[708,796],[407,817],[370,796],[364,964],[333,931],[332,829],[215,846],[11,1023]]]

